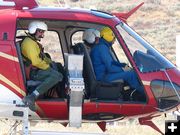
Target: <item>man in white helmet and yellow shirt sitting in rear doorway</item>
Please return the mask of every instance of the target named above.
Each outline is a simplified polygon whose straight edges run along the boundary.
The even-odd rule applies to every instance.
[[[39,43],[47,29],[45,22],[31,22],[28,26],[29,33],[27,33],[27,37],[21,43],[25,65],[31,67],[30,78],[41,81],[40,85],[30,95],[23,98],[23,102],[33,111],[36,110],[35,100],[37,97],[47,92],[63,79],[63,75],[51,67],[53,61],[45,55],[44,49]]]

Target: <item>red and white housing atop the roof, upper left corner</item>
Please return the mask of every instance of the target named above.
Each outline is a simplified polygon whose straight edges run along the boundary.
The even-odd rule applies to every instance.
[[[38,7],[35,0],[3,0],[2,3],[3,5],[0,5],[0,9],[15,8],[16,10],[22,10],[24,8],[32,9]]]

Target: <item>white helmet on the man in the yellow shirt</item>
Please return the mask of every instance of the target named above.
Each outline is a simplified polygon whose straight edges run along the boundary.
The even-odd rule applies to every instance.
[[[33,21],[28,26],[28,30],[30,34],[35,34],[37,29],[47,31],[48,27],[44,22],[41,21]]]

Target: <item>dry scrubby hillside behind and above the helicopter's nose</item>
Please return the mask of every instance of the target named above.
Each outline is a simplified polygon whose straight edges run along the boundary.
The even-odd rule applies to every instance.
[[[127,12],[141,2],[144,5],[128,19],[129,25],[175,63],[180,0],[39,0],[42,6],[93,8],[106,12]]]

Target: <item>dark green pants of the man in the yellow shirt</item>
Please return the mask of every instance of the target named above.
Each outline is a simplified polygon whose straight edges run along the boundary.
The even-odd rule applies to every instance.
[[[52,68],[48,68],[47,70],[32,70],[31,79],[42,82],[36,87],[36,90],[41,95],[47,92],[55,84],[62,81],[63,75]]]

